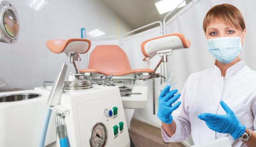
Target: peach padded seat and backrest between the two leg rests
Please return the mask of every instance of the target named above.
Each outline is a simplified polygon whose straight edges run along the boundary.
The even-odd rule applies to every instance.
[[[124,76],[134,73],[154,73],[154,70],[132,69],[126,53],[118,45],[97,45],[90,53],[88,68],[80,71],[80,73],[88,72]]]

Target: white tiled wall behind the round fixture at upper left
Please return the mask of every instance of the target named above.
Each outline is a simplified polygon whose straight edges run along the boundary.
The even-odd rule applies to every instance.
[[[0,81],[9,87],[33,89],[43,81],[54,81],[64,61],[64,53],[46,47],[50,39],[80,38],[81,28],[100,28],[106,36],[121,36],[131,29],[100,0],[7,0],[18,11],[20,32],[14,44],[0,42]],[[38,3],[42,3],[41,8]],[[40,8],[40,9],[37,9]],[[82,55],[81,68],[85,68]],[[69,63],[68,71],[74,72]]]

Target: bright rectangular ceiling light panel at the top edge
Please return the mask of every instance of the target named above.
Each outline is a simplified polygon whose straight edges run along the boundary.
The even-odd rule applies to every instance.
[[[184,2],[182,4],[180,4],[182,1],[184,1]],[[179,5],[179,7],[185,6],[186,1],[185,0],[161,0],[157,3],[155,3],[155,5],[158,10],[158,13],[163,14],[163,13],[174,10],[178,5]]]

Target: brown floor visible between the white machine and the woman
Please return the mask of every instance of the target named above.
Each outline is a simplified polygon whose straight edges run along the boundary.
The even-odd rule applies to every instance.
[[[129,129],[131,147],[186,147],[179,142],[165,143],[161,136],[161,129],[136,120],[131,121]]]

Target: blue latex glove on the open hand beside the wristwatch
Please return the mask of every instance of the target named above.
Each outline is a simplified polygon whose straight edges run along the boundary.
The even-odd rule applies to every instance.
[[[226,115],[218,115],[211,113],[203,113],[198,118],[206,122],[206,125],[213,131],[219,133],[229,133],[235,139],[238,139],[245,132],[245,126],[242,125],[235,113],[223,101],[220,102],[222,108],[226,111]]]

